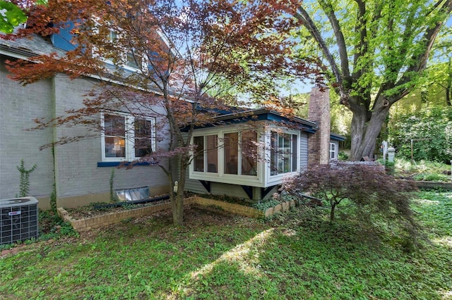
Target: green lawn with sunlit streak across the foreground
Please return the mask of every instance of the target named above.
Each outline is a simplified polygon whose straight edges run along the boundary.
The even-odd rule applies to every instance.
[[[322,208],[129,220],[0,258],[0,299],[452,299],[452,192],[413,208],[429,241],[411,254]]]

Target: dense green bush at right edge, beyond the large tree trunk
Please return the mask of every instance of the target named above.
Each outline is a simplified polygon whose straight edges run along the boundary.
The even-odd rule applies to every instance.
[[[391,144],[403,158],[411,159],[411,139],[415,161],[448,163],[452,157],[452,107],[396,115],[389,132]]]

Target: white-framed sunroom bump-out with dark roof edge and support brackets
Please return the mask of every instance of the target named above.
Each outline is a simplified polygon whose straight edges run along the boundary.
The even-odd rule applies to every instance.
[[[221,125],[194,130],[189,191],[259,200],[284,177],[306,168],[315,123],[266,109],[220,115],[216,121]]]

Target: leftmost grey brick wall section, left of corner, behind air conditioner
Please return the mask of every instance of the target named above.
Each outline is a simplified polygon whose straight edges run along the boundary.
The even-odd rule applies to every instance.
[[[19,193],[20,159],[30,173],[30,195],[49,195],[52,191],[52,152],[40,151],[42,144],[52,141],[51,130],[34,127],[34,118],[52,116],[51,82],[43,80],[25,87],[6,77],[4,56],[0,58],[0,199]]]

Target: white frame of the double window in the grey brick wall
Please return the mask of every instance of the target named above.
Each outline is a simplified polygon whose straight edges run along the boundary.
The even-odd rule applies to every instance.
[[[125,157],[107,157],[105,156],[105,115],[118,115],[124,118],[124,130],[125,130]],[[134,122],[136,117],[129,113],[118,112],[102,112],[100,115],[102,134],[101,134],[101,151],[102,162],[118,162],[118,161],[138,161],[141,157],[135,156],[135,127]],[[151,132],[150,140],[151,147],[155,151],[155,118],[140,117],[138,119],[144,119],[150,121]]]

